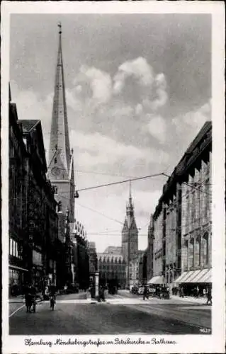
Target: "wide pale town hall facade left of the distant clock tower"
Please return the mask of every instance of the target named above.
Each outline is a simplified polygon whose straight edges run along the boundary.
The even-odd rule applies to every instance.
[[[109,281],[114,280],[124,289],[126,285],[125,258],[121,252],[116,253],[120,247],[113,249],[114,247],[111,246],[103,253],[97,253],[99,282],[100,284],[108,284]]]

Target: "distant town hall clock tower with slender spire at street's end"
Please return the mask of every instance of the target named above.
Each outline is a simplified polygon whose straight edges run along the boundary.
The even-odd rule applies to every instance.
[[[135,221],[134,206],[132,204],[131,185],[122,230],[122,254],[126,262],[126,287],[130,287],[130,261],[137,258],[138,254],[138,229]]]

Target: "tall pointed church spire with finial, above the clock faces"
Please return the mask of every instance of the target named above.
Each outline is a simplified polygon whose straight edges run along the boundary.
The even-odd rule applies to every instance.
[[[58,167],[68,176],[70,168],[70,146],[67,122],[67,106],[64,86],[64,68],[62,59],[62,25],[59,27],[59,46],[57,52],[57,68],[55,74],[55,89],[52,106],[52,124],[50,133],[49,164],[58,161]],[[56,160],[57,159],[57,160]]]

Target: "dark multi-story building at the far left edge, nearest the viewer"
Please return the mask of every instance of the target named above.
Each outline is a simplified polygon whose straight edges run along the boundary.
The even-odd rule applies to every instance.
[[[26,258],[26,146],[9,88],[9,292],[21,292],[29,280]]]

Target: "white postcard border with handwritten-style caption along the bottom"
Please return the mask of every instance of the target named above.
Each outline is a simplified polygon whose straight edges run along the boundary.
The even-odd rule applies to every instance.
[[[176,340],[155,346],[24,346],[23,336],[8,336],[8,101],[10,13],[212,13],[213,16],[213,334],[211,336],[143,336]],[[1,3],[1,181],[3,235],[3,353],[222,353],[225,350],[225,22],[222,1],[3,1]],[[46,336],[55,341],[56,336]],[[58,336],[57,336],[58,337]],[[87,336],[112,338],[113,336]],[[120,338],[128,336],[120,336]],[[132,338],[134,336],[130,336]],[[45,336],[33,336],[35,340]],[[67,340],[69,336],[62,336]],[[77,339],[84,336],[77,336]],[[114,338],[114,337],[113,337]],[[135,336],[139,338],[139,336]],[[73,339],[73,338],[72,338]]]

